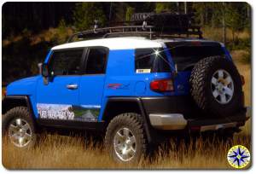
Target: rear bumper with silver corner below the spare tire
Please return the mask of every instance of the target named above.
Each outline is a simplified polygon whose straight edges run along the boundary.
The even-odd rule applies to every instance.
[[[246,113],[247,109],[243,108],[241,112],[223,119],[185,119],[182,113],[151,113],[149,120],[151,125],[158,130],[218,131],[244,125],[249,119]]]

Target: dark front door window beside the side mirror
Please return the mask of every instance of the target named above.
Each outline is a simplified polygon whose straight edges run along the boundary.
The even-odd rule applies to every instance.
[[[52,75],[79,74],[83,49],[56,51],[50,58],[49,71]]]

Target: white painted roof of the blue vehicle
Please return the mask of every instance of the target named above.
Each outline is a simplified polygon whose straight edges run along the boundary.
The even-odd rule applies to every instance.
[[[103,46],[108,49],[143,49],[160,48],[159,41],[149,40],[147,38],[127,37],[127,38],[100,38],[94,40],[85,40],[68,44],[61,44],[52,49],[70,49],[79,47]]]

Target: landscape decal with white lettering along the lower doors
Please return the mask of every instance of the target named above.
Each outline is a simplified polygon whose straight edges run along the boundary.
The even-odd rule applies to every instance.
[[[79,121],[96,121],[100,114],[101,106],[92,105],[61,105],[38,103],[40,119],[67,119]]]

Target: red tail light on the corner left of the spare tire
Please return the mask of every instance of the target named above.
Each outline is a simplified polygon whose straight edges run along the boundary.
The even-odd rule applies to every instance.
[[[173,91],[172,79],[159,79],[150,83],[150,89],[158,92]]]

